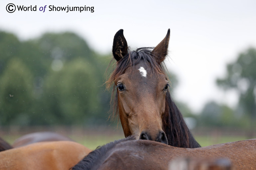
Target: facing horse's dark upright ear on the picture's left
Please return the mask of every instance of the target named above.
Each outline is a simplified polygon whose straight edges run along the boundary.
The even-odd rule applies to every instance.
[[[112,52],[116,61],[121,60],[128,53],[128,46],[123,31],[123,29],[120,29],[114,36]]]

